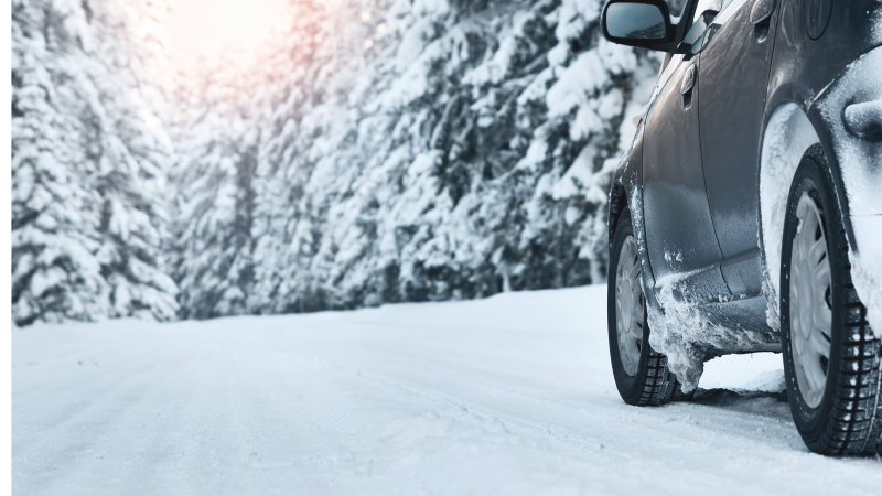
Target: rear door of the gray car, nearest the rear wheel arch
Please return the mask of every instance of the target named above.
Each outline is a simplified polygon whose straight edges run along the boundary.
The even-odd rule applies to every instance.
[[[762,290],[760,147],[781,0],[727,0],[700,48],[701,158],[721,271],[733,294]]]

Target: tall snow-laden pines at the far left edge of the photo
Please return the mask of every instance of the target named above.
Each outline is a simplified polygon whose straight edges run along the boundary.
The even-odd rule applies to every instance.
[[[164,10],[155,0],[12,1],[20,325],[175,315],[176,287],[160,257],[171,147],[142,71],[161,43],[153,28]]]

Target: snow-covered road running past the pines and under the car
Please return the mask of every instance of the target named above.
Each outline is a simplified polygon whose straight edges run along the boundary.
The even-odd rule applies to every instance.
[[[808,453],[773,397],[624,405],[605,322],[590,287],[14,330],[13,493],[880,494],[882,462]]]

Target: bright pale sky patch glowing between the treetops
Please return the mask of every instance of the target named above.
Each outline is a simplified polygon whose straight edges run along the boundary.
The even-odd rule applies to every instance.
[[[169,19],[172,51],[184,60],[201,52],[256,47],[286,15],[286,0],[178,0]]]

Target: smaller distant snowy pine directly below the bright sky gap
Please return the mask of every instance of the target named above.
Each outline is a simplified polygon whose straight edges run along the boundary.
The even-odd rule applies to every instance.
[[[184,319],[244,313],[252,282],[257,133],[229,110],[211,115],[224,119],[220,126],[196,123],[198,130],[213,130],[212,140],[187,149],[191,155],[181,155],[172,176],[180,187],[172,263]]]

